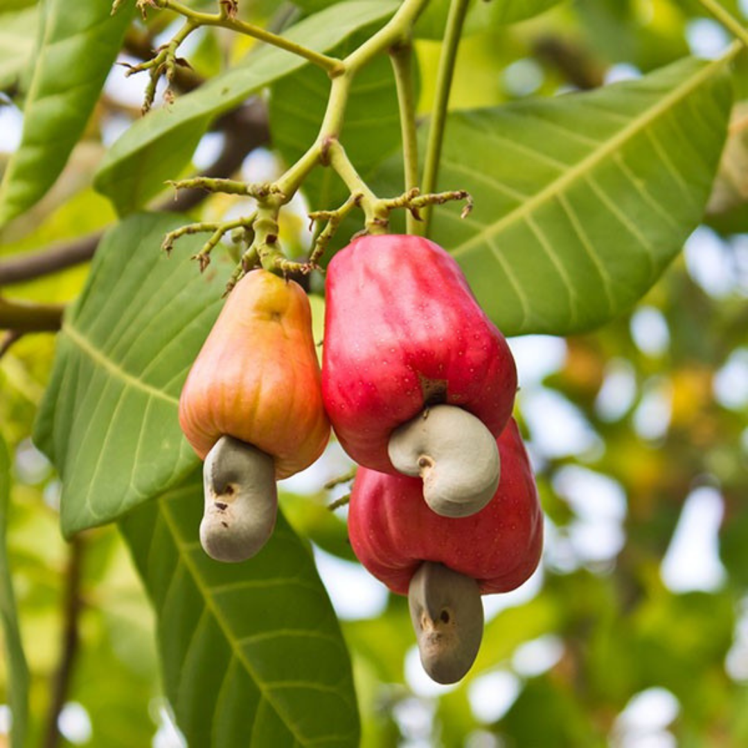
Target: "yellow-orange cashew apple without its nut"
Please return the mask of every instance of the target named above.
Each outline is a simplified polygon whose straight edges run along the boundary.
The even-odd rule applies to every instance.
[[[228,434],[271,455],[278,479],[322,454],[330,423],[301,286],[265,270],[236,284],[187,377],[180,426],[201,459]]]

